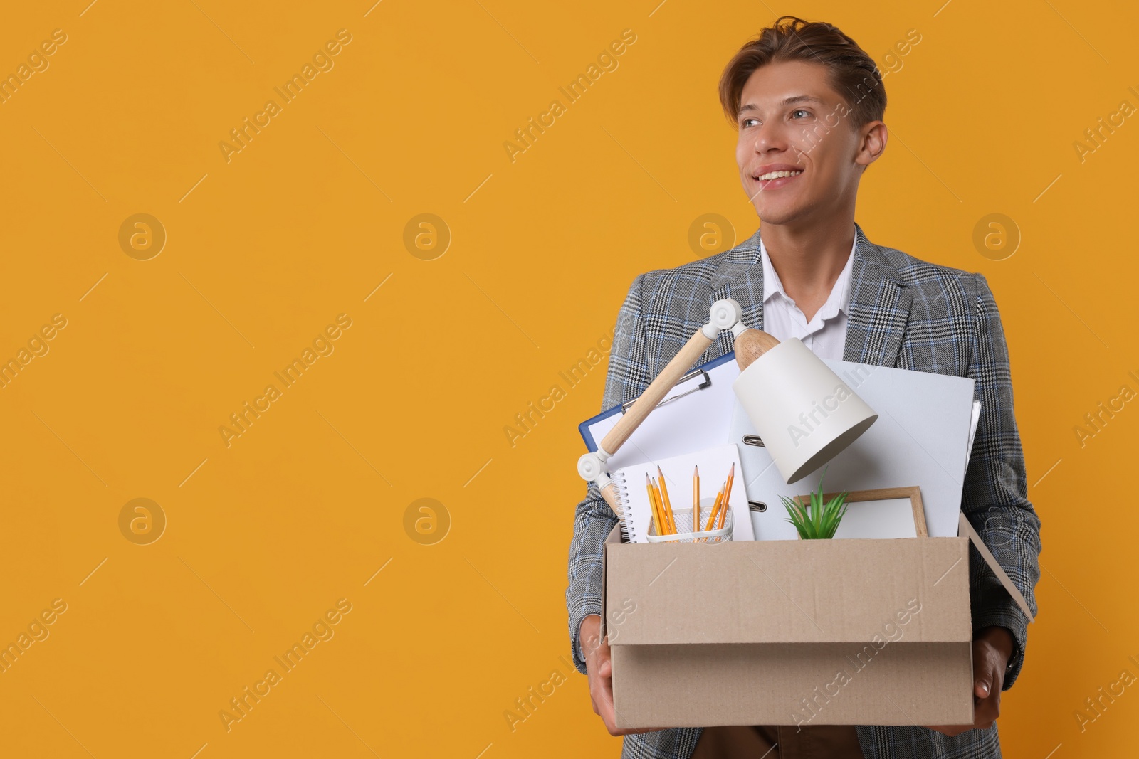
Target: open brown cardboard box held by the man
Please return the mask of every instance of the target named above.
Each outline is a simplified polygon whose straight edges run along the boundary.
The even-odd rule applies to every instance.
[[[614,529],[617,727],[972,724],[970,539],[1019,593],[960,522],[959,537],[720,545]]]

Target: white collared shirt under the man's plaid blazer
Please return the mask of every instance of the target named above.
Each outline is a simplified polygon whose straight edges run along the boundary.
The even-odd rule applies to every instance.
[[[854,245],[858,245],[855,241]],[[846,314],[851,302],[851,272],[854,269],[854,245],[846,265],[835,280],[830,297],[810,322],[795,302],[784,291],[768,249],[760,237],[760,257],[763,259],[763,331],[779,340],[797,337],[820,358],[843,357],[846,343]]]

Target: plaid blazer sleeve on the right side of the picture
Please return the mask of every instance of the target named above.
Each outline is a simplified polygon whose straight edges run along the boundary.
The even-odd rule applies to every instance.
[[[976,312],[968,377],[981,401],[981,419],[965,475],[961,510],[998,563],[1036,614],[1040,579],[1040,518],[1029,502],[1024,452],[1013,413],[1013,381],[1000,313],[983,274],[974,274]],[[969,551],[973,629],[1006,627],[1015,650],[1001,690],[1013,686],[1024,665],[1029,619],[975,548]]]

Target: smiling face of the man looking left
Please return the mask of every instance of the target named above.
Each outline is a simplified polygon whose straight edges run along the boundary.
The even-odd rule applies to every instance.
[[[781,61],[751,75],[740,97],[736,163],[761,222],[823,220],[853,204],[865,166],[877,157],[862,149],[863,135],[882,122],[855,131],[852,118],[821,64]],[[776,170],[802,173],[756,179]]]

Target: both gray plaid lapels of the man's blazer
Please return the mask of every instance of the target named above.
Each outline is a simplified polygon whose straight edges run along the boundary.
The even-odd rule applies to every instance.
[[[854,224],[854,263],[851,266],[851,299],[847,310],[843,361],[894,366],[902,346],[912,292],[882,249]],[[732,248],[710,280],[712,298],[735,298],[744,312],[744,323],[763,329],[763,265],[760,232]],[[731,332],[720,333],[702,358],[711,361],[732,350]]]

